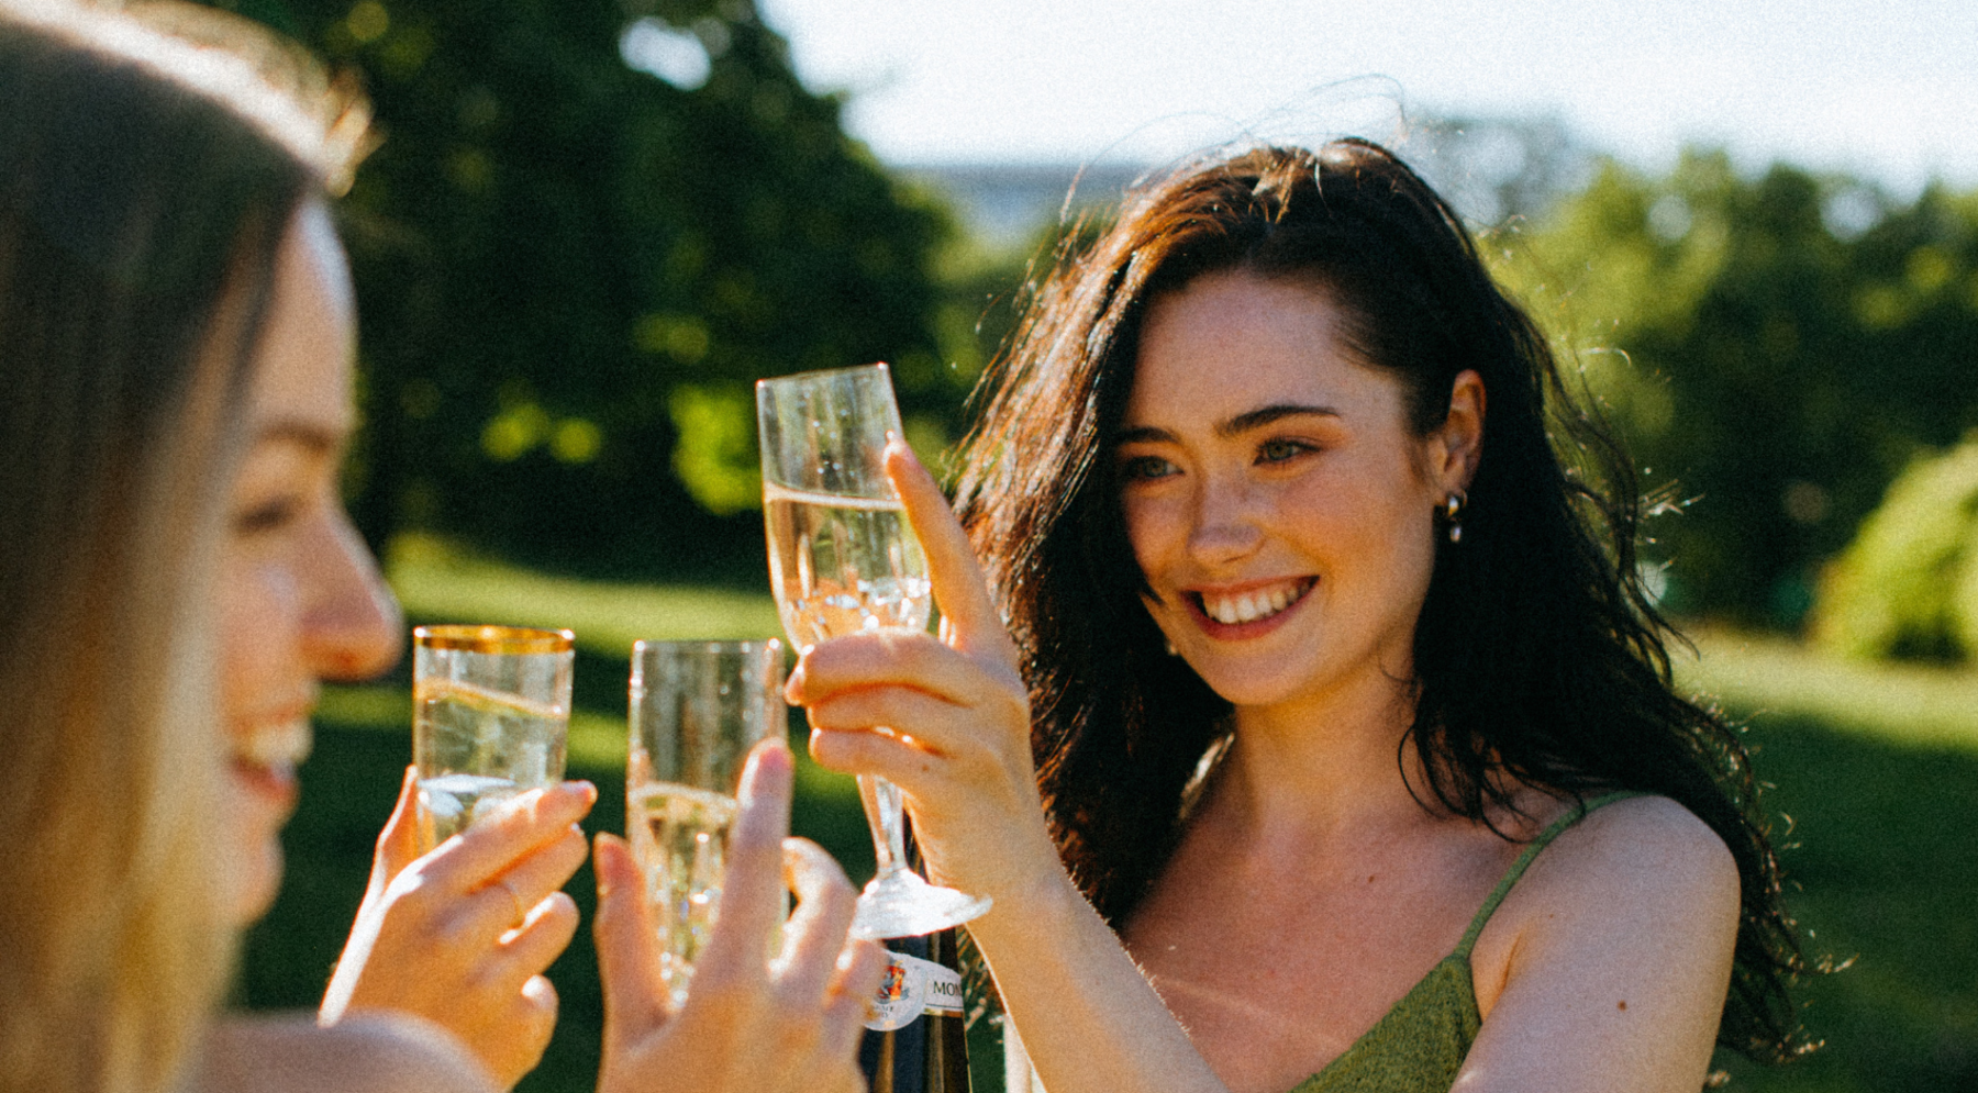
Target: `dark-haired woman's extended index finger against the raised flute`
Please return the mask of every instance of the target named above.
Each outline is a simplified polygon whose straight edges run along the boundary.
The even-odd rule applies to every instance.
[[[892,488],[906,504],[906,520],[928,551],[928,577],[934,583],[934,601],[942,605],[944,631],[953,634],[953,644],[961,652],[987,656],[1015,670],[1017,644],[989,597],[989,581],[975,563],[969,536],[947,506],[942,486],[906,441],[894,439],[886,445],[886,476],[892,478]]]

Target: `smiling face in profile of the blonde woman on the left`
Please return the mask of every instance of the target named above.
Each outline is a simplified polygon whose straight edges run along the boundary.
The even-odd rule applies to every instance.
[[[281,243],[220,571],[224,854],[241,925],[281,883],[279,836],[318,680],[372,676],[398,658],[398,603],[338,494],[354,350],[350,273],[328,210],[311,202]]]

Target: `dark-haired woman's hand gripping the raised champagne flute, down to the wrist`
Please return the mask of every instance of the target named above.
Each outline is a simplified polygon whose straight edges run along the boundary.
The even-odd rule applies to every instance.
[[[900,787],[930,878],[999,903],[1062,885],[1017,646],[967,534],[904,443],[886,449],[886,472],[928,553],[942,638],[874,631],[819,642],[785,696],[805,708],[821,765]]]

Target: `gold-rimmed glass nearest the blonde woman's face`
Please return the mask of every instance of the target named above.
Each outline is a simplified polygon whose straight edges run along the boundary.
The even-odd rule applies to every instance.
[[[570,631],[419,627],[411,632],[411,757],[419,852],[500,802],[564,777]]]

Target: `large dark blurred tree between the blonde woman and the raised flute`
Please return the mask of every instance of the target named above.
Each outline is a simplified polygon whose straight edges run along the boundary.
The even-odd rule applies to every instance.
[[[910,433],[959,431],[949,217],[845,136],[750,0],[222,6],[374,103],[340,210],[374,544],[736,577],[762,565],[756,378],[888,360]]]

